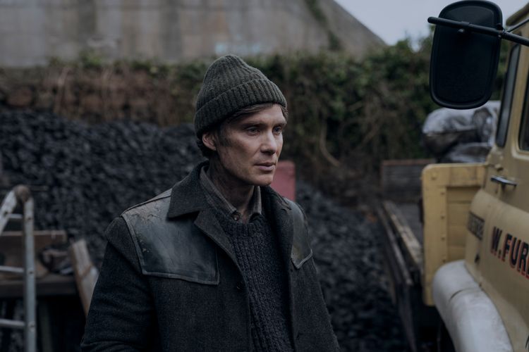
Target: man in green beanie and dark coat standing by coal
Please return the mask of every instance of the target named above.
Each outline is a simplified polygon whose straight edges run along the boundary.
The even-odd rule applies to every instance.
[[[237,56],[212,63],[195,131],[209,158],[126,210],[83,351],[337,351],[300,208],[272,182],[286,100]]]

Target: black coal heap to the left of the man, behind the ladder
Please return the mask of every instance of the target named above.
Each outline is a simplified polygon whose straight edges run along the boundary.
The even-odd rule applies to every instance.
[[[201,160],[193,125],[87,126],[51,113],[0,115],[0,151],[11,184],[35,189],[35,227],[87,238],[96,262],[102,234],[130,206],[172,187]]]

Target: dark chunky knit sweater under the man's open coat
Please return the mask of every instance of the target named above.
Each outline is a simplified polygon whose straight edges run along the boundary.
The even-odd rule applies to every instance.
[[[286,272],[276,236],[264,215],[248,224],[217,213],[229,237],[250,297],[255,351],[293,351],[288,328]]]

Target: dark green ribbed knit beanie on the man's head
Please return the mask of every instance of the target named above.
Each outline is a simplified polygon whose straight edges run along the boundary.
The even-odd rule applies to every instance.
[[[279,88],[257,68],[234,55],[218,58],[206,71],[197,97],[195,132],[202,133],[241,108],[258,103],[278,103],[286,108]]]

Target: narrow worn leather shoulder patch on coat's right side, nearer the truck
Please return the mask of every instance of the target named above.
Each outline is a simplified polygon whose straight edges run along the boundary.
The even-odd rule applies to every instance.
[[[303,214],[298,204],[288,199],[286,201],[291,208],[293,226],[291,260],[294,266],[299,269],[303,266],[303,263],[312,257],[312,249],[310,248],[305,214]]]

